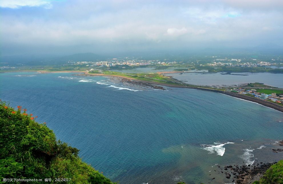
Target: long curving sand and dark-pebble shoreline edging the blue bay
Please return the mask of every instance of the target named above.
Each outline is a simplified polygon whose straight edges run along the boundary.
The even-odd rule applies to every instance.
[[[111,75],[111,74],[104,74],[104,73],[88,73],[87,71],[16,71],[16,72],[38,72],[38,73],[83,73],[85,76],[111,76],[111,77],[120,77],[122,79],[127,79],[128,81],[139,81],[142,82],[143,84],[154,84],[154,85],[161,85],[161,86],[166,86],[166,87],[178,87],[178,88],[189,88],[189,89],[200,89],[204,91],[211,91],[211,92],[216,92],[216,93],[221,93],[225,94],[228,96],[236,97],[238,99],[243,99],[246,101],[258,103],[260,105],[263,105],[265,107],[269,107],[271,109],[275,109],[277,111],[280,111],[283,113],[283,106],[277,105],[275,103],[261,100],[258,98],[246,96],[246,95],[240,95],[238,93],[233,93],[229,91],[220,91],[216,89],[208,89],[200,86],[190,86],[189,84],[183,83],[183,85],[175,85],[175,84],[166,84],[166,83],[159,83],[159,82],[154,82],[154,81],[143,81],[139,79],[134,79],[131,77],[125,77],[122,75]],[[164,72],[163,72],[164,73]]]

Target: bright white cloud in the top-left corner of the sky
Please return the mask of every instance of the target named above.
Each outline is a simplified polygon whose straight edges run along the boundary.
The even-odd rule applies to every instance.
[[[0,7],[18,9],[21,7],[39,7],[52,8],[49,0],[1,0]]]

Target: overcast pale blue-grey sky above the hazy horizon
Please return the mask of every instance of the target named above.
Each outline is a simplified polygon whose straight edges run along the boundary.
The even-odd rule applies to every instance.
[[[282,0],[1,0],[2,55],[283,44]]]

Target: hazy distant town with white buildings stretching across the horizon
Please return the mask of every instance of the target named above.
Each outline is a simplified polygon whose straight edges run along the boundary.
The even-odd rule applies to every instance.
[[[144,59],[143,57],[117,57],[108,59],[97,59],[95,56],[83,57],[66,56],[64,59],[30,59],[21,62],[19,59],[11,62],[2,59],[0,62],[0,70],[29,70],[29,69],[121,69],[121,68],[136,68],[136,67],[159,67],[158,69],[168,67],[180,67],[181,69],[208,69],[210,72],[224,71],[227,67],[234,72],[242,70],[256,69],[252,72],[274,72],[283,73],[283,58],[281,56],[191,56],[191,57],[154,57],[155,59]],[[149,57],[149,56],[148,56]],[[70,68],[71,67],[71,68]],[[266,67],[266,68],[265,68]],[[231,69],[234,68],[234,69]],[[247,68],[250,68],[247,70]]]

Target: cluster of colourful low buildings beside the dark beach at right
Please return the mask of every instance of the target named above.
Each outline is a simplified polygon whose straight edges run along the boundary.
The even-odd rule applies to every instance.
[[[265,93],[258,93],[256,89],[243,89],[243,88],[234,88],[234,89],[227,89],[226,91],[239,93],[239,94],[250,94],[256,98],[260,98],[262,100],[271,100],[277,103],[283,103],[283,95],[276,95],[276,93],[265,94]]]

